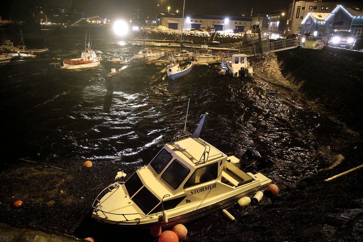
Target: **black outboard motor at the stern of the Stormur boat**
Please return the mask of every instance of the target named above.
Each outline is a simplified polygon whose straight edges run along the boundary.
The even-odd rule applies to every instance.
[[[271,160],[264,159],[261,154],[253,148],[246,149],[239,159],[239,164],[241,165],[240,169],[242,171],[252,173],[257,173],[263,168],[273,165]]]

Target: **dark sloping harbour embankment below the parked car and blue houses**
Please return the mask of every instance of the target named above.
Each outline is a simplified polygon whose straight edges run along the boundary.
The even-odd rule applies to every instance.
[[[276,52],[283,75],[308,99],[363,131],[363,52],[324,47]]]

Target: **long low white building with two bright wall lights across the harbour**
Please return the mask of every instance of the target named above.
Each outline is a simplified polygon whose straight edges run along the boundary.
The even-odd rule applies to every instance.
[[[161,25],[169,29],[200,29],[202,27],[214,28],[215,31],[235,31],[243,32],[250,30],[252,18],[242,16],[221,16],[221,15],[206,15],[206,14],[182,14],[161,13]]]

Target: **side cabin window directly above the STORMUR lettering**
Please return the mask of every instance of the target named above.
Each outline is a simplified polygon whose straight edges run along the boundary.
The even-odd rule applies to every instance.
[[[184,184],[184,189],[189,186],[215,180],[217,179],[217,177],[218,177],[217,163],[213,163],[212,165],[199,168],[196,171],[194,171],[193,175],[191,175],[188,181]]]

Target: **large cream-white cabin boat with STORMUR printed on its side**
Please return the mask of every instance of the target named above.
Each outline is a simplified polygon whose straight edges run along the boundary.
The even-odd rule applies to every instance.
[[[107,186],[93,203],[92,217],[122,226],[172,227],[264,190],[269,178],[248,170],[245,159],[227,156],[199,138],[207,114],[193,134],[185,121],[184,129],[147,166],[126,182]]]

